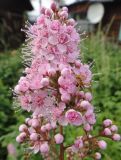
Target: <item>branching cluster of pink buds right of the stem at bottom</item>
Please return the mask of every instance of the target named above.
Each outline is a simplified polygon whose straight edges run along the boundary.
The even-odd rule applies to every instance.
[[[96,150],[105,150],[107,143],[104,140],[99,140],[100,137],[108,137],[114,141],[120,141],[121,136],[117,134],[118,127],[112,124],[110,119],[106,119],[103,122],[103,131],[97,136],[92,136],[86,133],[86,135],[77,137],[74,144],[67,147],[67,157],[69,160],[73,160],[73,157],[85,158],[92,157],[95,160],[101,159],[100,152],[92,152]]]

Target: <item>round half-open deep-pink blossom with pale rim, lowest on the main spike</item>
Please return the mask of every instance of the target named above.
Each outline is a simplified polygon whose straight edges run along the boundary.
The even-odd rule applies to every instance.
[[[67,121],[72,125],[80,126],[83,123],[81,114],[74,109],[68,110],[65,114],[65,117],[67,118]]]

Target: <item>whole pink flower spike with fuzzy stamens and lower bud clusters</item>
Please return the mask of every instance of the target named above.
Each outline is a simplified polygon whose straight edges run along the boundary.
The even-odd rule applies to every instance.
[[[107,147],[101,137],[120,140],[110,119],[104,120],[99,134],[92,135],[96,123],[90,93],[92,72],[79,59],[80,36],[75,25],[68,19],[66,7],[59,10],[52,3],[51,9],[42,8],[37,22],[26,29],[26,75],[14,93],[16,103],[31,117],[20,125],[16,141],[26,143],[31,153],[40,153],[46,160],[99,160],[101,150]],[[66,146],[63,130],[68,125],[81,127],[84,134]]]

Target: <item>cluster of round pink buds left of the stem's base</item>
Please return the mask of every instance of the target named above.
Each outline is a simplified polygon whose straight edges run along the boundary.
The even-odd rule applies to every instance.
[[[40,152],[44,158],[48,158],[50,153],[50,144],[61,144],[64,141],[63,135],[56,133],[56,124],[45,123],[41,116],[26,118],[25,123],[19,127],[20,134],[16,137],[18,143],[27,143],[29,150],[34,154]],[[53,139],[51,132],[54,132]]]

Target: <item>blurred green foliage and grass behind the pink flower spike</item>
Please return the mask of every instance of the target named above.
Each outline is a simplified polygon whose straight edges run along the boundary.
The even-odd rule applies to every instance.
[[[105,118],[113,119],[121,133],[121,47],[108,42],[102,32],[91,35],[81,42],[81,58],[86,63],[93,63],[93,104],[97,113],[98,131]],[[0,160],[24,159],[24,147],[15,142],[18,126],[24,122],[25,113],[12,106],[12,89],[23,74],[21,49],[0,53]],[[76,135],[81,135],[80,128],[69,126],[65,129],[67,143]],[[69,138],[68,138],[69,137]],[[17,149],[17,158],[7,154],[7,145],[13,143]],[[121,143],[108,140],[108,149],[103,152],[103,160],[120,160]],[[30,159],[40,159],[40,155]],[[91,159],[89,159],[91,160]]]

